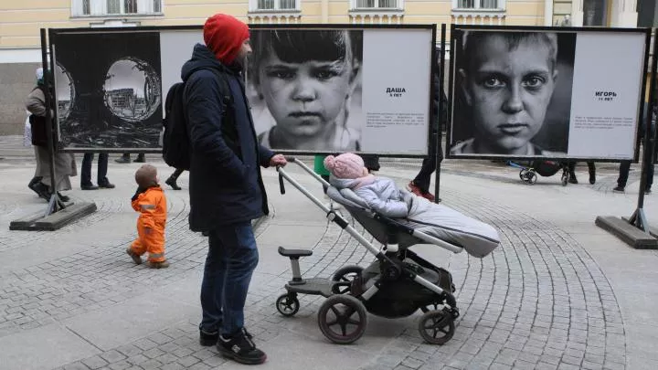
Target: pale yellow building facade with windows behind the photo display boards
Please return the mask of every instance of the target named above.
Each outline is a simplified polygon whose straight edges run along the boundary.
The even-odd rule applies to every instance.
[[[0,134],[23,130],[23,99],[33,88],[41,60],[40,28],[202,25],[218,12],[251,24],[637,24],[635,0],[2,1]]]

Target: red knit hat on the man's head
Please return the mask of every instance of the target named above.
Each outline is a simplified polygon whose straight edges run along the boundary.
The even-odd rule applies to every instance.
[[[249,38],[249,26],[235,16],[216,14],[207,18],[204,25],[204,41],[215,57],[225,65],[238,57],[242,43]]]

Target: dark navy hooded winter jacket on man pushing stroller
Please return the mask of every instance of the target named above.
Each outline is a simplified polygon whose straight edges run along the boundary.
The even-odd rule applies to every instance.
[[[233,120],[224,120],[226,91],[221,91],[225,85],[217,72],[228,79]],[[267,167],[273,153],[256,139],[240,70],[222,65],[206,46],[196,44],[181,77],[186,81],[185,110],[192,145],[190,228],[208,231],[268,214],[260,165]]]

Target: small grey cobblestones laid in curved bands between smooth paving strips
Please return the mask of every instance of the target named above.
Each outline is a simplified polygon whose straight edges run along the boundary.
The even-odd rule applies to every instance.
[[[0,230],[0,249],[21,248],[35,240],[74,233],[129,206],[124,199],[95,198],[99,211],[55,232],[11,233]],[[169,192],[167,253],[172,267],[160,279],[145,279],[149,270],[126,263],[124,249],[133,239],[126,230],[81,253],[0,275],[0,336],[93,312],[117,302],[185,279],[201,269],[207,239],[189,231],[186,199]],[[610,284],[586,251],[557,227],[530,215],[494,204],[490,199],[459,196],[451,206],[492,224],[502,245],[492,255],[475,259],[465,253],[446,260],[457,285],[462,316],[446,345],[424,344],[415,324],[392,338],[364,367],[402,369],[623,369],[626,344],[621,313]],[[13,209],[10,203],[2,209]],[[267,226],[258,228],[258,232]],[[362,230],[357,226],[357,229]],[[330,225],[303,259],[305,276],[328,277],[345,264],[365,266],[365,248]],[[247,304],[247,326],[260,342],[276,340],[293,321],[282,318],[274,300],[290,279],[255,276]],[[301,296],[298,316],[312,316],[322,298]],[[225,360],[215,349],[197,344],[197,322],[180,322],[111,351],[63,366],[62,369],[208,369]]]

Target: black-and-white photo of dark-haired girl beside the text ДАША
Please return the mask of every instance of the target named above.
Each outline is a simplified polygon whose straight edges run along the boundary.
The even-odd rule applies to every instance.
[[[359,150],[363,31],[254,29],[251,45],[248,96],[260,144]]]

